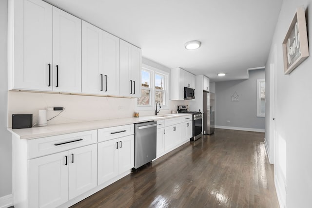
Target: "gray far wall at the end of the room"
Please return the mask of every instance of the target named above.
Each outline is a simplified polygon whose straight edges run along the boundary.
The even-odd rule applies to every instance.
[[[249,79],[215,83],[215,125],[265,129],[265,118],[256,116],[257,79],[264,79],[264,69],[249,71]],[[234,93],[239,102],[232,102]],[[231,121],[228,123],[227,121]]]

